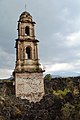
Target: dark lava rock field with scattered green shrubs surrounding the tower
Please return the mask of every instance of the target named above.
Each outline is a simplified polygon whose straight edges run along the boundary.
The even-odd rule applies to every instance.
[[[16,98],[13,81],[0,85],[0,120],[80,120],[80,77],[45,76],[40,102]],[[3,84],[2,84],[3,83]]]

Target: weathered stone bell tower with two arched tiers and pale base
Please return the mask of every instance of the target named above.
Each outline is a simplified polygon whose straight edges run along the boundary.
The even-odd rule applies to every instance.
[[[38,102],[44,95],[43,70],[38,59],[38,40],[35,39],[35,22],[28,12],[18,21],[16,39],[15,92],[16,97]]]

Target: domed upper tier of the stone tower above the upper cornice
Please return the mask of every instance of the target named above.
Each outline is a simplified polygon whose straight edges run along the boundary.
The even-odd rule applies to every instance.
[[[35,39],[34,24],[32,16],[28,12],[23,12],[18,21],[18,39]]]

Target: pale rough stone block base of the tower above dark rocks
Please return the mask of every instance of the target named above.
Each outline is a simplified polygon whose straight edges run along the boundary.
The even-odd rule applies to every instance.
[[[43,73],[15,73],[16,97],[39,102],[44,95]]]

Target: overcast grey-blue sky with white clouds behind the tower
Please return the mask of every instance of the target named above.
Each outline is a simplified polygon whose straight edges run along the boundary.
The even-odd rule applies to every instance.
[[[26,0],[0,0],[0,78],[15,68],[17,21]],[[80,0],[27,0],[46,73],[80,75]]]

